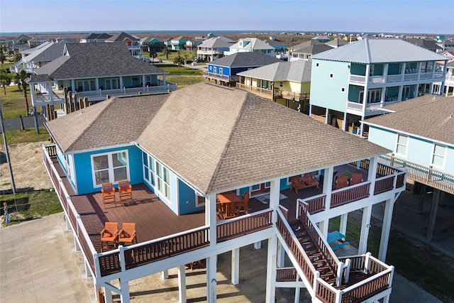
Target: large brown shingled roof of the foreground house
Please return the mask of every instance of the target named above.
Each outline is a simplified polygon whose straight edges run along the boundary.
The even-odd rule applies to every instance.
[[[136,141],[204,194],[389,153],[243,89],[206,82],[82,111],[47,123],[63,152]]]

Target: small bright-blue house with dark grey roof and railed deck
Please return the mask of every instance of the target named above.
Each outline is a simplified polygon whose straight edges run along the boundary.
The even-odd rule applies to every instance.
[[[279,61],[264,53],[235,53],[207,63],[208,71],[204,72],[204,78],[214,80],[215,83],[219,81],[220,84],[235,86],[239,79],[238,72]]]

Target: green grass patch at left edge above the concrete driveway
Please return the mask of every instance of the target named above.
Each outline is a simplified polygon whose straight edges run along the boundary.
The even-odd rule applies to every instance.
[[[63,211],[60,202],[58,201],[57,194],[49,190],[38,190],[34,192],[16,192],[16,197],[13,194],[4,194],[2,202],[8,204],[9,218],[11,224],[18,224],[23,221],[30,221],[38,219],[50,214],[57,214]],[[3,203],[2,203],[3,205]],[[1,215],[3,215],[3,207],[1,208]]]

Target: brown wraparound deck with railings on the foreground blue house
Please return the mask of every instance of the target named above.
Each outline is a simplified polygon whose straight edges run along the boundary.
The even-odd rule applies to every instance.
[[[108,206],[104,209],[101,192],[76,195],[70,181],[57,160],[55,145],[43,146],[43,161],[52,181],[55,192],[65,211],[65,216],[74,230],[78,246],[83,250],[89,269],[96,278],[115,275],[161,260],[181,257],[194,253],[199,260],[208,253],[210,236],[209,226],[205,225],[204,211],[177,216],[143,183],[133,185],[135,205]],[[356,163],[354,163],[356,165]],[[368,161],[360,162],[365,180],[367,180]],[[348,165],[350,170],[355,166]],[[338,167],[341,170],[341,167]],[[344,167],[345,170],[345,167]],[[381,194],[404,186],[405,172],[387,165],[377,167],[379,177],[372,194]],[[330,182],[330,180],[327,180]],[[289,218],[301,216],[301,207],[295,207],[297,199],[311,200],[309,207],[314,211],[323,211],[326,194],[320,189],[307,188],[295,193],[283,190],[286,198],[280,204],[289,209]],[[338,189],[331,193],[331,207],[350,204],[368,197],[370,182],[363,182],[353,187]],[[312,200],[314,202],[312,202]],[[272,209],[252,197],[249,202],[250,214],[235,219],[216,223],[216,243],[248,236],[253,233],[269,231],[272,233]],[[139,243],[133,246],[117,248],[104,253],[101,251],[99,232],[104,222],[135,222]],[[196,250],[196,252],[195,252]]]

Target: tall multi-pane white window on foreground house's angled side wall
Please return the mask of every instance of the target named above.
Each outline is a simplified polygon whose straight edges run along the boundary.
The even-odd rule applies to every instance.
[[[170,201],[170,170],[146,153],[143,158],[143,179]]]

